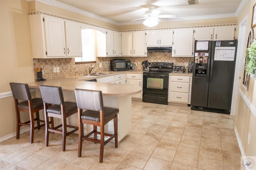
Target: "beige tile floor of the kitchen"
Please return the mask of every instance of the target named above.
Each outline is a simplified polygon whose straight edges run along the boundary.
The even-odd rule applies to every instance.
[[[119,142],[104,148],[83,142],[78,158],[78,134],[67,137],[61,151],[61,135],[50,134],[44,146],[44,129],[20,139],[0,142],[0,169],[8,170],[240,170],[240,150],[230,115],[191,111],[190,107],[132,101],[132,129]]]

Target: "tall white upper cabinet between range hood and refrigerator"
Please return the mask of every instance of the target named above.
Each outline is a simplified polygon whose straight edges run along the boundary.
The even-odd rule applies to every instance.
[[[172,57],[193,57],[193,37],[193,29],[174,30]]]

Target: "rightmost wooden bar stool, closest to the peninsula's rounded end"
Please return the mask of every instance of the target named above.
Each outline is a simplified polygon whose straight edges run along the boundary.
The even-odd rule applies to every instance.
[[[102,91],[92,91],[84,89],[75,89],[76,103],[78,107],[78,157],[82,154],[82,141],[87,140],[94,143],[100,143],[100,163],[103,161],[104,146],[115,138],[115,147],[118,147],[118,125],[117,113],[118,109],[104,107],[102,99]],[[86,111],[83,112],[83,109]],[[114,119],[114,134],[104,132],[104,125]],[[93,130],[84,136],[83,124],[93,125]],[[100,132],[97,131],[100,127]],[[89,137],[94,134],[94,138]],[[100,134],[100,140],[97,139]],[[105,136],[110,136],[106,141]]]

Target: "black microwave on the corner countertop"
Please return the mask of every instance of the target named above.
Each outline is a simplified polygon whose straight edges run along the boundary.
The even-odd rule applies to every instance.
[[[112,71],[125,71],[132,69],[132,63],[127,59],[112,59],[110,61]]]

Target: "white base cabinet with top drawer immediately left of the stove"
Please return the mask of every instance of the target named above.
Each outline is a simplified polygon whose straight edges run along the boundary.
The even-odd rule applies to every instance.
[[[142,74],[126,74],[126,84],[140,86],[142,88]],[[132,98],[142,99],[142,92],[132,95]]]

